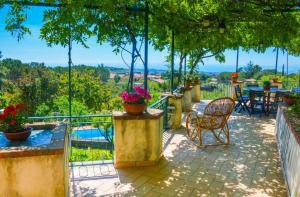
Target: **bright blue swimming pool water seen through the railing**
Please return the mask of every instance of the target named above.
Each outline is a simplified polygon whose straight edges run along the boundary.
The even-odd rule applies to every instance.
[[[108,130],[109,135],[112,135],[112,129]],[[82,129],[74,130],[71,137],[73,139],[105,139],[105,131],[103,129]]]

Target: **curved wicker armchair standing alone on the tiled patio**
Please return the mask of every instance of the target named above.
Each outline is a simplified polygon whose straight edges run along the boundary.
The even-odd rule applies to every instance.
[[[203,115],[192,111],[186,118],[187,135],[190,139],[202,146],[202,132],[211,131],[217,141],[229,144],[229,128],[227,121],[234,109],[235,102],[229,97],[219,98],[211,101],[204,110]]]

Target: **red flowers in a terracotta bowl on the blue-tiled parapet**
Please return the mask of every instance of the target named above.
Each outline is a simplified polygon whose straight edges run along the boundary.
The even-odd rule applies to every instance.
[[[10,141],[24,141],[30,134],[32,128],[25,127],[27,115],[23,104],[10,105],[0,115],[0,129]]]

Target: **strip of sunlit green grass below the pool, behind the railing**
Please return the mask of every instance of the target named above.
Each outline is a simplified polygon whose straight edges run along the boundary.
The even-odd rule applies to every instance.
[[[97,161],[97,160],[112,160],[113,155],[109,150],[88,148],[81,149],[72,147],[70,162],[75,161]]]

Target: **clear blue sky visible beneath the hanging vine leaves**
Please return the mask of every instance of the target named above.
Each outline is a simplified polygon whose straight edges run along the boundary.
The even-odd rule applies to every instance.
[[[64,66],[67,64],[66,48],[60,46],[50,48],[44,40],[39,38],[39,29],[43,24],[43,9],[37,7],[28,9],[28,20],[25,24],[31,29],[32,33],[31,35],[26,35],[20,42],[4,29],[5,14],[8,10],[7,6],[0,9],[0,51],[2,51],[4,58],[20,59],[23,62],[44,62],[49,66]],[[121,55],[115,54],[108,43],[100,46],[94,38],[91,38],[88,41],[88,45],[89,48],[84,48],[74,44],[72,54],[74,64],[97,65],[103,63],[110,66],[125,66]],[[166,56],[167,51],[155,51],[150,46],[149,67],[166,68],[162,66],[166,64]],[[208,72],[234,71],[236,51],[227,50],[225,56],[226,62],[224,64],[218,63],[214,58],[206,59],[205,65],[200,66],[200,70]],[[125,59],[128,63],[130,62],[129,55],[125,55]],[[257,54],[253,51],[249,53],[240,51],[239,65],[246,65],[249,61],[264,68],[274,68],[275,52],[271,48],[264,54]],[[140,65],[141,63],[137,62],[137,64]],[[278,63],[280,70],[283,64],[286,64],[286,55],[280,53]],[[297,72],[300,69],[300,57],[289,56],[289,66],[290,72]]]

